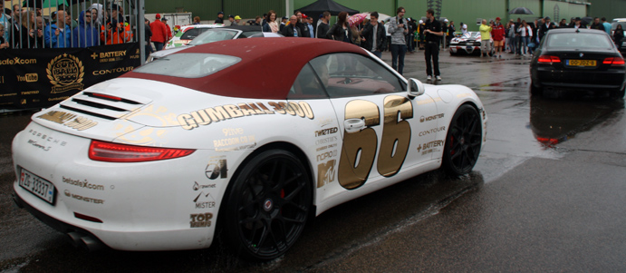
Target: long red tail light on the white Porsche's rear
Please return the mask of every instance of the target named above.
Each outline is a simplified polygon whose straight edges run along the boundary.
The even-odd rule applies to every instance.
[[[196,150],[143,147],[104,141],[91,141],[91,145],[89,146],[89,158],[92,161],[109,162],[163,161],[188,156],[194,151]]]

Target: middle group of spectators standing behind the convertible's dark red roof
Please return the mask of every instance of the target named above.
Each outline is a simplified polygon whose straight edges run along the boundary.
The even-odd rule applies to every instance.
[[[429,9],[426,13],[427,20],[423,22],[405,18],[404,7],[399,7],[396,16],[390,17],[388,23],[381,21],[379,13],[372,12],[369,18],[364,18],[361,23],[350,24],[347,12],[337,15],[337,22],[332,26],[330,12],[320,15],[318,23],[314,23],[312,16],[304,15],[296,11],[291,17],[282,17],[278,22],[274,10],[267,14],[256,16],[247,24],[261,25],[264,32],[282,34],[286,37],[322,38],[357,44],[371,51],[376,56],[381,56],[384,51],[390,51],[392,55],[392,67],[399,73],[403,73],[404,57],[407,53],[413,54],[417,48],[423,48],[426,63],[428,64],[428,78],[441,80],[438,69],[438,50],[442,42],[448,41],[454,35],[456,28],[454,22],[444,20],[439,22],[434,17],[434,11]],[[237,16],[228,16],[232,24],[239,24]],[[217,14],[216,24],[225,24],[224,13]],[[313,25],[315,24],[315,25]]]

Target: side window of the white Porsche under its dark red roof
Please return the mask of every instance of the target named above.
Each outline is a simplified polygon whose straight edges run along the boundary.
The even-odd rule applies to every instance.
[[[332,98],[402,92],[406,84],[387,68],[358,54],[327,54],[311,61]]]

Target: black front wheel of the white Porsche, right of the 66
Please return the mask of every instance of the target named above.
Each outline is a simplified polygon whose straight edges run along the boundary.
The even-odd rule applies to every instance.
[[[483,139],[483,126],[477,110],[471,105],[461,105],[454,113],[448,127],[443,150],[444,171],[452,176],[472,171]]]

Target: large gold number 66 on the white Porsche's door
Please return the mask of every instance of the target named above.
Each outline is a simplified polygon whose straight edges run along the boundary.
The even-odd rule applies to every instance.
[[[380,175],[390,177],[400,171],[409,152],[410,125],[406,120],[413,117],[413,104],[405,97],[390,95],[383,107],[377,169]],[[373,102],[348,102],[344,124],[338,178],[343,188],[352,190],[361,187],[370,175],[378,148],[378,136],[371,127],[380,125],[380,109]],[[361,125],[361,129],[351,125]]]

